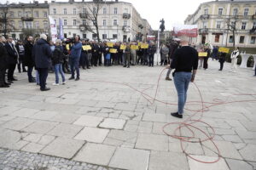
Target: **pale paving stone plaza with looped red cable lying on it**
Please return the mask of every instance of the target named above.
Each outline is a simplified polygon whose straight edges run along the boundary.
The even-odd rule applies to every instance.
[[[198,71],[204,112],[190,84],[183,120],[170,115],[177,111],[177,93],[166,71],[153,100],[163,66],[96,67],[81,71],[79,82],[58,87],[49,74],[48,92],[15,72],[19,81],[0,89],[0,169],[256,169],[256,77],[252,68],[232,73],[228,63],[224,71],[218,67],[210,59],[209,69]],[[167,123],[188,118],[208,125],[193,123],[202,130],[190,127],[193,133],[187,127],[176,131],[177,124],[164,129],[183,139],[194,136],[194,142],[163,132]],[[214,143],[202,141],[213,134],[209,125]]]

